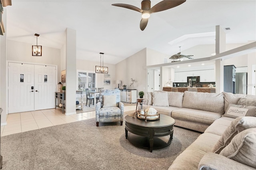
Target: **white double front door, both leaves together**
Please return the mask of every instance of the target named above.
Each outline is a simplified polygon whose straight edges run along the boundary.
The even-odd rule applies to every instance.
[[[8,113],[54,108],[56,66],[8,63]]]

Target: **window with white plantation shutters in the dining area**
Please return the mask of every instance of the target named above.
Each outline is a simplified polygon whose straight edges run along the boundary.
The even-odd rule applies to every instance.
[[[96,73],[78,72],[78,90],[96,87]]]

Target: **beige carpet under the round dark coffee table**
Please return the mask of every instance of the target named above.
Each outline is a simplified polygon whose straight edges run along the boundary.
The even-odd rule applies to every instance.
[[[125,138],[125,123],[88,119],[2,136],[2,170],[167,170],[200,134],[174,127],[172,143],[150,152]]]

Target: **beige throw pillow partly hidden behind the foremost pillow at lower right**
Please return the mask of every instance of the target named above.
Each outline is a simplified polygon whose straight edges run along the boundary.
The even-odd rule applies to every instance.
[[[236,134],[248,128],[256,128],[256,117],[238,117],[234,119],[212,148],[212,152],[219,154]]]

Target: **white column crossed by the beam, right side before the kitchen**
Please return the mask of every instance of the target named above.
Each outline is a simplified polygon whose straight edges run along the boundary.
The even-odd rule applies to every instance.
[[[226,51],[226,33],[220,26],[216,26],[215,29],[215,53],[219,54]],[[216,93],[221,93],[224,90],[224,65],[222,59],[215,61],[215,78]]]

